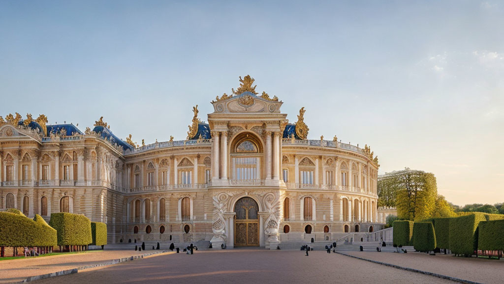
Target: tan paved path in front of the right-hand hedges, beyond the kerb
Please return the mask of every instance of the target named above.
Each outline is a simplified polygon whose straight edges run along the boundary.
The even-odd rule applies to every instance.
[[[361,258],[443,274],[479,283],[502,283],[504,281],[504,260],[465,258],[453,255],[408,252],[341,252]]]

